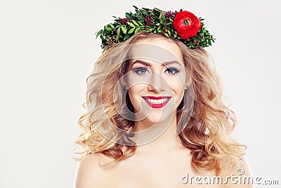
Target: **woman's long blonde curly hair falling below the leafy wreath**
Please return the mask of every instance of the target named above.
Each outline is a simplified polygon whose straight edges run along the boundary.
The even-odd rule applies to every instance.
[[[136,151],[136,143],[131,139],[134,122],[119,114],[115,106],[115,101],[119,99],[112,91],[128,70],[127,60],[131,49],[129,44],[141,39],[159,37],[163,36],[138,32],[125,42],[103,51],[94,63],[94,71],[87,78],[87,102],[83,105],[87,109],[78,121],[81,134],[74,144],[79,146],[80,151],[74,151],[79,154],[79,157],[74,157],[75,160],[81,161],[89,153],[103,153],[115,161],[120,161],[132,156]],[[236,117],[235,113],[223,104],[223,87],[211,56],[200,46],[188,49],[183,42],[163,38],[176,43],[181,49],[183,63],[194,88],[192,114],[189,121],[183,125],[183,131],[178,134],[183,146],[191,151],[192,167],[197,170],[216,169],[219,172],[222,169],[220,165],[222,160],[237,165],[244,155],[246,146],[230,136],[235,127]],[[121,91],[119,94],[124,94],[122,88],[119,88],[119,91]],[[129,97],[126,97],[122,104],[133,111]],[[186,114],[183,113],[183,101],[178,106],[176,115],[177,123],[180,118],[184,119]],[[104,133],[102,134],[97,127],[102,127],[100,130]],[[125,133],[119,134],[117,127]],[[118,144],[117,141],[120,140],[124,144]]]

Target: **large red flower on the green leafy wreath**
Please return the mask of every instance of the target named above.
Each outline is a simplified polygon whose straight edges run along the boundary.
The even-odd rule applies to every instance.
[[[181,39],[188,39],[197,35],[202,24],[196,15],[188,11],[180,11],[174,18],[173,26]]]

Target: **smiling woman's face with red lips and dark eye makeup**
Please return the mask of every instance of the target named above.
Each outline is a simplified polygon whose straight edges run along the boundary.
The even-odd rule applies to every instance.
[[[187,84],[181,49],[167,39],[141,39],[130,51],[126,87],[136,120],[157,123],[176,117]]]

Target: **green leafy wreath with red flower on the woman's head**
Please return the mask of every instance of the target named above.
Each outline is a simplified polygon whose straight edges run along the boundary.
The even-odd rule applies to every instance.
[[[171,37],[183,42],[188,48],[196,46],[207,47],[214,42],[214,37],[205,29],[204,19],[197,18],[188,11],[167,11],[162,14],[159,8],[139,9],[136,13],[126,13],[126,18],[115,18],[114,23],[104,26],[103,30],[96,32],[96,38],[102,40],[101,48],[106,49],[112,44],[126,41],[139,31],[153,32],[165,37]]]

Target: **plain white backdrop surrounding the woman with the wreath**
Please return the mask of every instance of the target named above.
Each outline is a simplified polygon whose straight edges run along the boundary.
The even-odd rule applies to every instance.
[[[237,114],[233,135],[254,175],[281,183],[278,1],[18,0],[0,1],[0,187],[72,187],[71,145],[101,53],[94,33],[132,5],[205,18],[216,37],[207,51]]]

